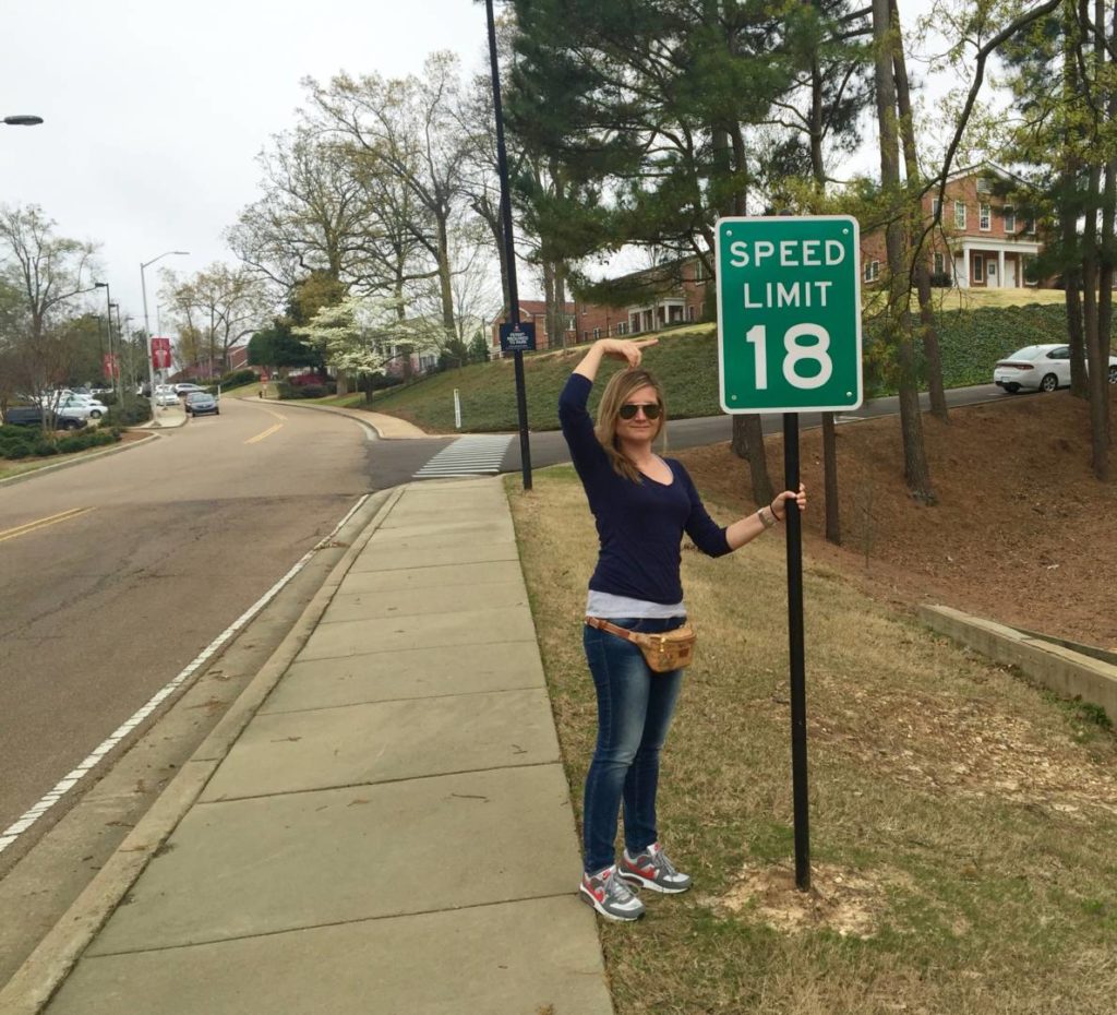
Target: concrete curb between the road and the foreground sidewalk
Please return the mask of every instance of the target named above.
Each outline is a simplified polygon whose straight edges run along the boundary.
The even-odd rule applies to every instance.
[[[193,806],[245,727],[287,672],[314,633],[342,579],[405,488],[407,486],[402,485],[388,493],[375,515],[334,566],[271,657],[260,667],[210,734],[198,746],[190,760],[160,794],[151,809],[106,861],[85,891],[0,989],[0,1015],[36,1015],[49,1003],[89,942]]]

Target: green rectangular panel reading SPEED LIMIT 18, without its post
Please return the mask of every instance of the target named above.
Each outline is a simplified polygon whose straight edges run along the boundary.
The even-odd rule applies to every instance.
[[[849,216],[717,222],[718,388],[726,412],[861,405],[861,247]]]

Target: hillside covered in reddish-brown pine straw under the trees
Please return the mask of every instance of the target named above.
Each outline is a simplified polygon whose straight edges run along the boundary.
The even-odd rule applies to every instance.
[[[1117,419],[1117,388],[1111,396]],[[1086,404],[1059,391],[953,409],[949,425],[924,420],[935,508],[907,494],[895,418],[839,427],[841,549],[822,538],[821,435],[803,434],[812,559],[875,598],[943,603],[1117,649],[1117,482],[1092,477]],[[679,458],[704,496],[753,510],[748,466],[727,444]],[[782,438],[771,438],[773,482],[782,463]]]

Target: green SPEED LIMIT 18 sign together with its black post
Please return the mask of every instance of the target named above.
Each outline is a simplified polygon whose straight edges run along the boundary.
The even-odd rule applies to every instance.
[[[846,215],[718,219],[717,332],[722,408],[783,415],[785,488],[799,491],[799,414],[861,405],[861,273]],[[795,884],[811,886],[803,652],[803,530],[786,502],[787,641]]]

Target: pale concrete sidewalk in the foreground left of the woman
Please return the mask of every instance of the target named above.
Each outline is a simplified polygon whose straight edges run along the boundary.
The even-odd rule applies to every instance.
[[[50,1015],[611,1015],[500,481],[346,561]]]

